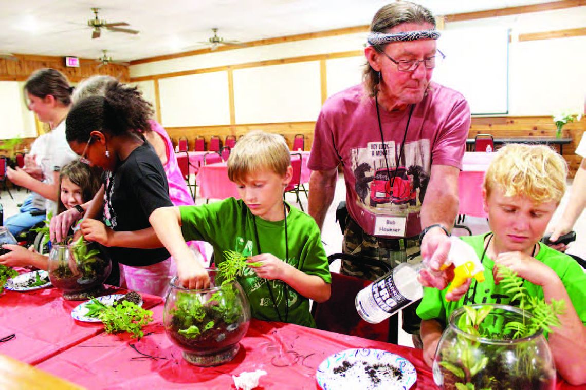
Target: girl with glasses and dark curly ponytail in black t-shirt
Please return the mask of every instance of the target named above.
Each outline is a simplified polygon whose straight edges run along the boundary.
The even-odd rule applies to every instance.
[[[161,160],[137,129],[150,129],[151,105],[137,88],[112,82],[103,96],[77,102],[67,116],[67,141],[82,161],[104,169],[100,192],[80,224],[87,240],[107,247],[120,264],[120,285],[164,296],[169,280],[206,281],[203,267],[175,264],[149,223],[151,213],[172,206]],[[100,218],[98,220],[97,218]],[[52,237],[62,225],[52,223]]]

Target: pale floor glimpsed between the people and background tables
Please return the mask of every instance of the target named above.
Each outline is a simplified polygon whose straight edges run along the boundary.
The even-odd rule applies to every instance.
[[[570,189],[572,184],[572,180],[568,180],[568,190]],[[18,203],[21,203],[28,194],[21,189],[21,191],[16,191],[15,189],[11,189],[11,194],[14,199],[8,195],[6,191],[0,192],[0,203],[4,206],[4,218],[8,218],[8,216],[14,215],[18,212]],[[345,200],[345,184],[342,175],[338,179],[336,184],[336,192],[334,195],[334,200],[332,202],[331,207],[328,210],[328,215],[326,216],[324,227],[322,230],[322,241],[324,244],[324,248],[328,255],[333,253],[338,253],[342,248],[342,233],[340,232],[340,228],[338,224],[335,222],[335,210],[336,206],[340,201]],[[297,205],[295,195],[294,194],[287,194],[286,197],[287,201],[292,205]],[[560,203],[560,207],[554,213],[553,218],[551,219],[550,226],[553,226],[558,218],[561,216],[561,212],[564,209],[566,203],[568,201],[568,191],[564,195]],[[205,203],[205,199],[196,198],[196,203],[198,205]],[[301,194],[301,203],[305,211],[307,211],[307,199],[305,198],[305,194]],[[465,225],[468,226],[472,230],[472,234],[481,234],[488,232],[488,222],[486,219],[483,218],[473,218],[473,217],[466,217]],[[457,229],[461,230],[461,229]],[[578,222],[574,226],[574,230],[577,233],[578,237],[585,237],[586,236],[586,218],[582,215]],[[464,230],[460,232],[455,231],[455,234],[466,234]],[[577,240],[575,241],[571,248],[568,249],[568,253],[575,254],[576,256],[586,258],[586,240]],[[211,247],[206,247],[206,253],[210,256],[211,255]],[[208,257],[209,257],[208,256]],[[333,264],[332,271],[338,271],[339,264]],[[353,299],[354,297],[349,297],[349,299]],[[410,334],[403,332],[403,330],[399,331],[399,344],[404,346],[413,346],[411,341]]]

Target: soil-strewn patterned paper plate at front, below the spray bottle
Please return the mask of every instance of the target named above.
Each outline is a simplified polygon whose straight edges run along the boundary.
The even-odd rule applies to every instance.
[[[417,372],[410,361],[397,354],[360,348],[329,356],[315,377],[323,390],[407,390],[417,381]]]

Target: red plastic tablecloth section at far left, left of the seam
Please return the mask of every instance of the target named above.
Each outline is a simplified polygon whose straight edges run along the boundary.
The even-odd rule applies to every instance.
[[[125,290],[112,288],[108,294]],[[143,295],[143,307],[152,308],[162,299]],[[56,288],[30,292],[6,291],[0,295],[0,354],[36,365],[104,331],[101,323],[77,322],[71,310],[80,301],[66,301]]]

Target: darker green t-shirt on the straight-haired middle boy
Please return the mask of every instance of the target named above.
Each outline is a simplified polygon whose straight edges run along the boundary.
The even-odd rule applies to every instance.
[[[311,216],[291,206],[289,209],[287,263],[305,274],[317,275],[330,283],[328,257],[323,250],[318,226]],[[212,244],[216,265],[224,261],[223,251],[226,250],[234,250],[244,256],[261,253],[255,237],[254,216],[240,199],[228,198],[202,206],[180,206],[179,210],[185,240],[204,240]],[[256,225],[262,253],[271,253],[277,258],[284,259],[286,253],[284,220],[271,222],[257,217]],[[282,320],[285,320],[288,302],[287,322],[315,327],[315,321],[309,312],[309,299],[288,287],[286,302],[284,282],[267,281],[257,277],[252,270],[247,270],[243,277],[238,278],[238,281],[248,296],[253,317],[267,321],[279,320],[267,287],[268,282]]]

